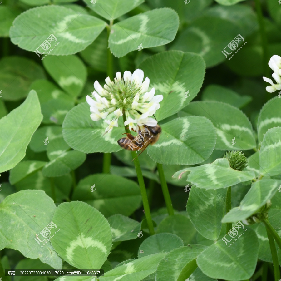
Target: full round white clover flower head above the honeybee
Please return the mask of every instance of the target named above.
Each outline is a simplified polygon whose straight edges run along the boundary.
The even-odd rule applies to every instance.
[[[121,72],[116,73],[114,81],[106,77],[106,84],[102,87],[95,81],[95,91],[91,96],[86,96],[86,101],[90,105],[91,119],[99,121],[104,119],[108,125],[106,132],[110,132],[113,127],[118,127],[119,117],[125,114],[125,126],[130,130],[137,131],[137,126],[156,126],[157,121],[150,117],[160,108],[160,101],[163,95],[155,95],[155,89],[149,92],[149,78],[143,81],[144,72],[137,69],[133,72],[125,71],[123,78]],[[106,119],[106,120],[105,120]]]

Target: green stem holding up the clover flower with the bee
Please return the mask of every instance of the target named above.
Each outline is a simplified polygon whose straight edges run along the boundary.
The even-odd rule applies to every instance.
[[[123,121],[124,122],[126,121],[125,114],[123,114]],[[128,128],[126,128],[126,126],[125,126],[125,131],[126,131],[126,133],[130,134],[130,130]],[[134,151],[131,151],[131,155],[132,155],[133,159],[136,157],[136,154]],[[144,179],[143,179],[142,172],[141,172],[141,165],[140,165],[140,161],[139,161],[138,157],[136,157],[136,159],[134,160],[134,164],[135,164],[135,169],[136,169],[139,186],[141,189],[142,203],[143,203],[143,208],[145,210],[145,218],[146,218],[146,221],[148,224],[149,233],[150,233],[150,235],[154,235],[155,232],[154,232],[154,228],[153,228],[153,222],[152,222],[148,198],[147,198],[147,194],[146,194],[145,183],[144,183]]]

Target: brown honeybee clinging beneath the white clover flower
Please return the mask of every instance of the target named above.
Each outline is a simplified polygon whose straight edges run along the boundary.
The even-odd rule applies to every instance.
[[[139,126],[138,133],[139,134],[136,137],[130,133],[123,133],[122,135],[126,134],[127,136],[121,138],[117,142],[122,148],[135,151],[135,153],[143,149],[141,151],[142,153],[148,147],[148,145],[153,145],[159,140],[161,127],[158,124],[154,127],[147,125]]]

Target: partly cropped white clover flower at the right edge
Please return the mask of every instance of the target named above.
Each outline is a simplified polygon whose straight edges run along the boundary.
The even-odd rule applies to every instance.
[[[265,90],[269,93],[273,93],[277,90],[281,90],[281,57],[279,57],[278,55],[273,55],[270,58],[268,65],[274,71],[272,77],[277,82],[277,84],[274,84],[270,78],[263,77],[265,82],[271,84],[271,86],[267,86]]]

